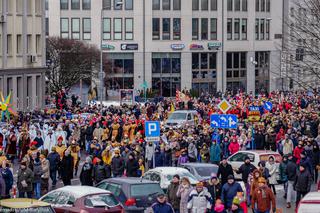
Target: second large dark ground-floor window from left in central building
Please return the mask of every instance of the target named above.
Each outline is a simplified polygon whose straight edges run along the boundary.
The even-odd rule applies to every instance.
[[[179,53],[152,54],[152,90],[160,96],[175,96],[181,88],[181,55]]]

